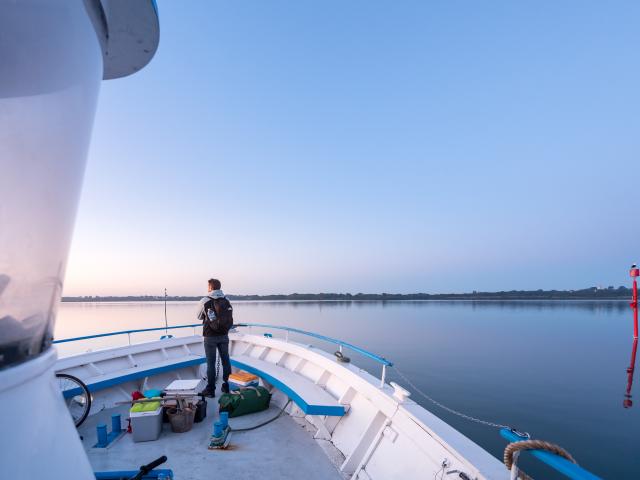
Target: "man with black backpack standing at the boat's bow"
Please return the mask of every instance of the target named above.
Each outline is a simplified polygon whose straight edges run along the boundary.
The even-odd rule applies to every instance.
[[[220,352],[222,361],[222,391],[229,391],[229,330],[233,327],[233,307],[222,293],[220,280],[208,280],[206,297],[200,300],[198,320],[202,320],[204,351],[207,355],[207,387],[201,392],[207,397],[216,395],[216,352]]]

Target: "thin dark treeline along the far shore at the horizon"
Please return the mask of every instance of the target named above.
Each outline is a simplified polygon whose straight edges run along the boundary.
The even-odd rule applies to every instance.
[[[624,300],[631,298],[626,287],[591,287],[582,290],[510,290],[471,293],[292,293],[289,295],[228,295],[231,300]],[[198,296],[168,296],[168,301],[200,300]],[[63,302],[145,302],[164,300],[164,296],[84,296],[62,297]]]

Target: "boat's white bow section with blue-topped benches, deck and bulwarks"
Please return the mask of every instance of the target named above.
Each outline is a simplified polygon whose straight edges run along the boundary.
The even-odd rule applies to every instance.
[[[168,330],[192,329],[193,334],[173,337]],[[207,451],[218,407],[209,402],[208,421],[188,433],[170,433],[138,447],[130,438],[113,446],[96,448],[98,425],[113,415],[127,416],[131,392],[162,390],[176,379],[201,379],[206,375],[200,324],[127,330],[57,340],[83,342],[93,338],[146,332],[164,332],[156,341],[129,344],[71,355],[57,360],[56,373],[80,378],[92,395],[89,419],[79,429],[82,444],[97,478],[130,470],[168,453],[171,478],[198,479],[216,470],[222,475],[249,478],[256,471],[266,478],[394,479],[432,478],[455,473],[457,478],[507,479],[504,464],[469,438],[420,406],[403,386],[386,383],[393,363],[363,348],[313,332],[276,325],[241,323],[230,333],[234,370],[253,373],[273,395],[267,412],[242,418],[239,427],[260,425],[265,418],[277,423],[236,434],[229,451]],[[311,343],[293,341],[290,335],[335,345],[334,354]],[[380,366],[380,376],[345,362],[354,351]],[[508,440],[518,432],[503,429]],[[292,443],[293,442],[293,443]],[[595,475],[548,452],[541,460],[569,478],[594,479]],[[274,466],[274,463],[277,466]],[[426,473],[425,473],[426,472]],[[135,471],[128,471],[135,474]]]

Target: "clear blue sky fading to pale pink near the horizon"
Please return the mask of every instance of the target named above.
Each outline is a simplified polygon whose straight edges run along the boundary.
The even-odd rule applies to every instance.
[[[628,284],[640,3],[158,1],[65,295]]]

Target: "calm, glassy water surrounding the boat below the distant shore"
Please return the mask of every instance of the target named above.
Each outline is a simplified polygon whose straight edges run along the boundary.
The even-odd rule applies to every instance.
[[[62,304],[56,338],[161,326],[163,308],[161,303]],[[195,323],[195,310],[195,303],[170,303],[169,324]],[[640,478],[640,394],[634,396],[636,405],[623,408],[632,349],[626,302],[236,302],[234,317],[362,346],[394,361],[452,408],[558,443],[604,478]],[[132,340],[157,338],[157,333],[138,334]],[[126,344],[127,338],[107,341]],[[61,346],[60,354],[105,342]],[[366,358],[352,358],[379,374]],[[389,377],[403,383],[393,369]],[[413,398],[502,458],[505,442],[497,430]],[[538,478],[556,478],[537,464],[524,466]]]

